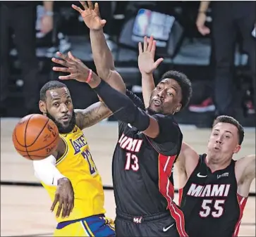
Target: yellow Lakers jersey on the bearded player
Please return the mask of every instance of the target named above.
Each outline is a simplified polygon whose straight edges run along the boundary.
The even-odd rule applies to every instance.
[[[65,153],[56,160],[56,168],[65,177],[71,180],[75,194],[75,205],[70,216],[57,218],[57,222],[64,222],[95,214],[104,214],[104,191],[102,179],[99,176],[95,162],[83,132],[75,126],[69,134],[59,134],[66,143]],[[56,186],[42,183],[48,191],[51,200],[54,200]],[[54,212],[58,204],[56,205]]]

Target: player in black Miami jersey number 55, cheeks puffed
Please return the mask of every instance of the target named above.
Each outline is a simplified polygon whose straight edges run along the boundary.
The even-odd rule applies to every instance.
[[[183,143],[176,165],[179,203],[190,237],[238,236],[243,210],[255,179],[255,154],[233,160],[243,142],[243,127],[233,117],[214,121],[207,154]]]

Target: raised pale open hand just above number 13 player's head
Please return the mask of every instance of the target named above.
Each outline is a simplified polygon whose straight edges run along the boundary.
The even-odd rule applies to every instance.
[[[147,44],[147,37],[144,37],[144,45],[142,49],[142,44],[139,43],[139,57],[138,57],[138,66],[140,72],[150,74],[152,73],[158,65],[164,60],[164,58],[159,58],[154,62],[154,53],[156,51],[156,41],[153,37],[150,37],[150,40]]]

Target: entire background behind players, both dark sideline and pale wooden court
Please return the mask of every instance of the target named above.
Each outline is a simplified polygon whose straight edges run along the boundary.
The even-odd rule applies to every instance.
[[[56,51],[72,51],[95,70],[89,30],[71,4],[80,5],[0,1],[1,236],[51,236],[56,226],[49,196],[35,178],[32,162],[16,153],[11,134],[19,117],[39,113],[44,83],[58,79],[51,70]],[[107,21],[104,33],[116,70],[128,89],[142,97],[138,42],[153,35],[156,58],[164,58],[154,72],[155,82],[167,70],[179,70],[193,84],[188,108],[175,115],[184,141],[205,153],[210,129],[197,128],[211,127],[217,115],[231,115],[249,127],[235,158],[255,153],[255,1],[99,1],[99,7]],[[87,84],[65,83],[75,108],[98,100]],[[111,157],[116,123],[102,122],[85,132],[102,176],[106,216],[114,218]],[[240,236],[255,236],[255,181]]]

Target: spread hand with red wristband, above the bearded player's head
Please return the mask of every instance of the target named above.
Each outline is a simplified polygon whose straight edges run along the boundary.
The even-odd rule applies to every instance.
[[[63,65],[65,68],[54,67],[52,70],[56,72],[69,72],[67,76],[60,76],[59,79],[76,79],[78,82],[86,82],[90,73],[90,68],[87,68],[83,62],[68,52],[68,55],[63,53],[56,53],[59,58],[51,58],[54,63]]]

